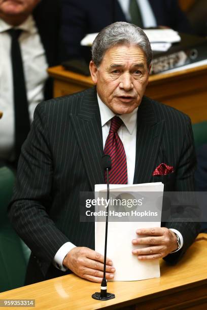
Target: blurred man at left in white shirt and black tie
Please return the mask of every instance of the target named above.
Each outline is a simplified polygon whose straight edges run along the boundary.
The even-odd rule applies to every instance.
[[[37,104],[52,97],[47,68],[63,57],[58,0],[0,0],[0,165],[16,163]]]

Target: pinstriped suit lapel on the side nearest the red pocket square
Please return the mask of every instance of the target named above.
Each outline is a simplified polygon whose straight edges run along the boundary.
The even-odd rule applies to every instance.
[[[144,97],[137,112],[134,184],[152,181],[164,121],[157,122],[153,103]]]

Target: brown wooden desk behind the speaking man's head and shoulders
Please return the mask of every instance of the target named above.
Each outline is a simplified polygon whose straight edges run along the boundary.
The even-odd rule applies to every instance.
[[[65,70],[48,69],[54,78],[54,97],[73,94],[92,87],[89,76]],[[188,114],[192,123],[207,120],[207,65],[179,72],[150,76],[146,96]]]

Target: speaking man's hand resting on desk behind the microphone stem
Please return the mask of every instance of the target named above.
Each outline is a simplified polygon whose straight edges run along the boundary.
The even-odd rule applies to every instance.
[[[63,265],[72,270],[77,276],[101,283],[103,278],[103,255],[86,247],[76,247],[67,253]],[[113,279],[115,268],[112,261],[106,261],[106,279]]]

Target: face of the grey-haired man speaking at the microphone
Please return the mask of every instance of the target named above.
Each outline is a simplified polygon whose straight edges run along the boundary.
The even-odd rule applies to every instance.
[[[110,48],[97,68],[90,71],[100,99],[115,113],[131,113],[140,105],[148,84],[149,70],[144,52],[136,46]]]

